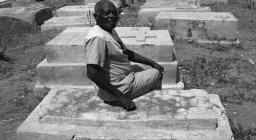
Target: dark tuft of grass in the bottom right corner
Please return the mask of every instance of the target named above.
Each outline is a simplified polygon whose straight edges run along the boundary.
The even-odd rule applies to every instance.
[[[244,129],[239,122],[235,125],[231,119],[229,119],[229,123],[235,140],[255,140],[256,128]]]

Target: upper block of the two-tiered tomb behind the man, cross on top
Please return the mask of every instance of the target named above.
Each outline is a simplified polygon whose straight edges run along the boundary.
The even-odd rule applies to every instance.
[[[86,27],[69,28],[46,43],[47,62],[85,63],[85,37],[89,29]],[[136,30],[134,31],[134,29]],[[148,29],[119,27],[116,28],[116,31],[128,49],[154,61],[172,62],[173,43],[168,30]],[[142,37],[142,40],[137,40],[138,37]]]

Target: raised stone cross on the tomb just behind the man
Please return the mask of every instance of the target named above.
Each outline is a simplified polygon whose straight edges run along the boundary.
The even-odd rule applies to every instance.
[[[123,31],[119,33],[120,38],[136,38],[136,42],[145,42],[146,37],[156,38],[151,31]]]

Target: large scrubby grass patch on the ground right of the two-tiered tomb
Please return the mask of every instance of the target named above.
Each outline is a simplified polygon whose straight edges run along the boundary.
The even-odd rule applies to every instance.
[[[243,81],[239,73],[239,68],[246,67],[244,63],[247,62],[235,56],[201,56],[185,60],[179,65],[185,89],[205,89],[209,93],[218,94],[222,102],[242,104],[246,101],[256,102],[253,93],[255,85]]]

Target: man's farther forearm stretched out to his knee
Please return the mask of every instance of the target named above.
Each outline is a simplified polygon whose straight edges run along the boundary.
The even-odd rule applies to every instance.
[[[123,53],[128,56],[129,61],[151,65],[153,68],[159,70],[162,75],[164,74],[164,68],[153,60],[143,57],[129,49],[126,49]]]

